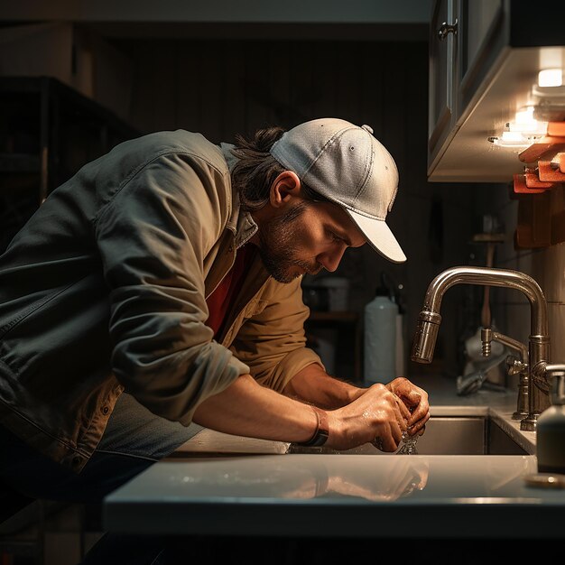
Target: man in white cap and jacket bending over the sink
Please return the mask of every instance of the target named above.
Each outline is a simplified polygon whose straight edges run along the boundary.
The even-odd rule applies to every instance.
[[[303,274],[366,243],[405,260],[384,221],[393,158],[333,118],[237,142],[178,130],[120,144],[0,257],[5,484],[99,500],[193,422],[335,449],[422,433],[425,391],[333,378],[303,330]]]

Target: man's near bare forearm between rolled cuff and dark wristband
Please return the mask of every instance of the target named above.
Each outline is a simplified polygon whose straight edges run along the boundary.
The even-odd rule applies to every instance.
[[[310,440],[317,427],[308,404],[257,384],[251,375],[200,403],[193,421],[234,435],[297,442]]]

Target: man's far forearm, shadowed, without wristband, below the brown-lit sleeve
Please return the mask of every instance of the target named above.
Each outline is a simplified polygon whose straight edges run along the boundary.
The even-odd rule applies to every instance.
[[[351,403],[364,390],[329,376],[320,365],[312,363],[294,375],[282,392],[291,398],[334,410]]]

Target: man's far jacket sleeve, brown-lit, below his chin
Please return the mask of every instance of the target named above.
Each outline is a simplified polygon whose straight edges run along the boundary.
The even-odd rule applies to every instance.
[[[312,363],[323,367],[320,357],[306,347],[304,321],[310,310],[302,301],[301,279],[282,284],[270,279],[267,306],[237,333],[234,354],[251,369],[260,383],[282,392],[302,368]]]

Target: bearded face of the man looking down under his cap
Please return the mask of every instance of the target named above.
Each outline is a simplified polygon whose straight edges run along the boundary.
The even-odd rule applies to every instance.
[[[366,243],[347,212],[329,202],[298,199],[259,227],[259,253],[278,282],[338,268],[347,247]]]

